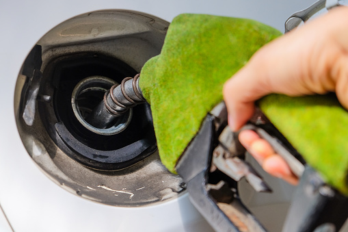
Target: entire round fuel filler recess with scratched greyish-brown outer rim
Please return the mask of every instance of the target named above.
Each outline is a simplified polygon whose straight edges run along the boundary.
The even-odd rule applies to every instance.
[[[16,125],[31,159],[57,185],[122,207],[185,192],[183,179],[161,164],[148,103],[96,127],[118,133],[95,133],[81,124],[91,123],[110,86],[134,77],[161,52],[168,26],[142,12],[88,12],[60,23],[31,50],[16,82]],[[118,128],[122,123],[126,127]]]

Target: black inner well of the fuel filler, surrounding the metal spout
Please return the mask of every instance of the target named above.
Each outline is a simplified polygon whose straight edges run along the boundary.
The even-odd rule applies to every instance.
[[[106,129],[93,127],[82,116],[98,105],[107,88],[135,73],[128,64],[99,53],[65,55],[44,68],[41,85],[53,87],[44,90],[53,104],[38,102],[39,114],[53,141],[66,145],[60,147],[66,155],[97,170],[120,170],[156,151],[148,104],[137,105]]]

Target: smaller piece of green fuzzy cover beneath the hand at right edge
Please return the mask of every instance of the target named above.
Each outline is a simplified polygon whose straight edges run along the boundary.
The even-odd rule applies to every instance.
[[[335,94],[271,94],[260,108],[327,183],[348,196],[348,112]]]

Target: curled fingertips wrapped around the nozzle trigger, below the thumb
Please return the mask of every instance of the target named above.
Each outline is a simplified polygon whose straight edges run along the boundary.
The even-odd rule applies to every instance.
[[[291,172],[289,165],[280,155],[274,153],[271,145],[261,139],[255,131],[241,131],[239,141],[270,175],[282,178],[293,185],[297,184],[298,179]]]

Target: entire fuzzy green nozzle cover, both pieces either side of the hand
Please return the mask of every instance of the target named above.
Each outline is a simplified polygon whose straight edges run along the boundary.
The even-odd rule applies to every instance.
[[[170,171],[175,172],[206,113],[222,101],[224,82],[280,35],[243,18],[199,14],[174,18],[161,54],[146,62],[139,83],[151,105],[161,161]],[[337,99],[271,94],[258,103],[325,181],[348,194],[348,114]]]

